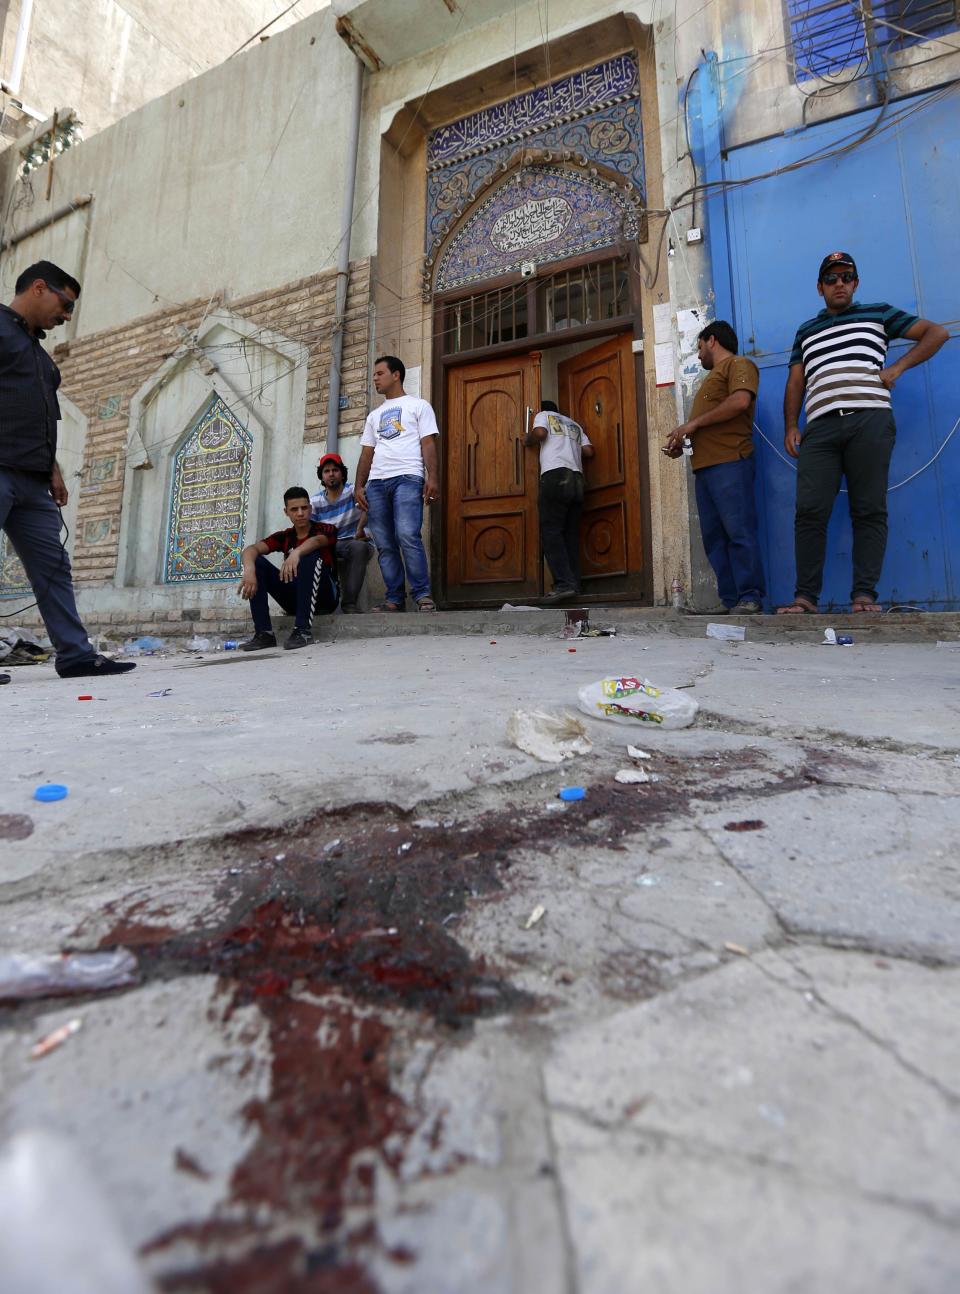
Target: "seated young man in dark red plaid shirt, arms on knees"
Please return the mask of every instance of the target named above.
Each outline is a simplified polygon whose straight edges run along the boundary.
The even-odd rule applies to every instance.
[[[311,496],[303,485],[291,485],[285,492],[283,511],[292,525],[248,543],[241,554],[243,575],[237,591],[250,602],[254,617],[254,637],[241,643],[241,651],[277,646],[268,598],[296,617],[283,643],[286,651],[309,647],[313,642],[313,617],[329,616],[340,600],[335,527],[311,520]],[[269,560],[268,553],[282,554],[279,569]]]

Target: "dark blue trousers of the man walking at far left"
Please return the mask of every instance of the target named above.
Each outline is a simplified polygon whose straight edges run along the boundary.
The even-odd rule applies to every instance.
[[[0,467],[0,531],[23,563],[57,650],[57,668],[93,660],[96,652],[76,611],[70,558],[60,541],[60,509],[49,481],[32,472]]]

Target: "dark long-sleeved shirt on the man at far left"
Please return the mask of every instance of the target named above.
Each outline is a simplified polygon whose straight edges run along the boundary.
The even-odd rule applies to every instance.
[[[9,305],[0,305],[0,467],[49,476],[57,458],[60,369]]]

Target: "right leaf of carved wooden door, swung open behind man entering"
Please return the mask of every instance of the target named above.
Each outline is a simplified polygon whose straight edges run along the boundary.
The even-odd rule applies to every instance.
[[[640,519],[637,384],[629,335],[612,338],[558,365],[559,405],[590,437],[580,525],[585,594],[640,593]]]

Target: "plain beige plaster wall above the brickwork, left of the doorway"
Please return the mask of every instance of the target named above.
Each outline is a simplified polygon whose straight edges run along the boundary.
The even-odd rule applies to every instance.
[[[8,150],[6,237],[93,195],[70,217],[85,238],[76,336],[335,264],[353,62],[323,10],[63,153],[49,199],[49,167],[18,180]],[[376,220],[375,184],[357,193],[353,259],[373,252]],[[17,268],[52,238],[45,230],[0,258],[6,299]]]

